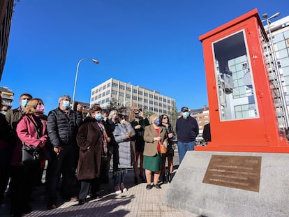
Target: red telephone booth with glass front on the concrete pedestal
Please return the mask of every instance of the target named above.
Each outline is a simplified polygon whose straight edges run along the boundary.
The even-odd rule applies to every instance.
[[[199,151],[289,153],[279,128],[257,9],[200,36],[212,142]]]

